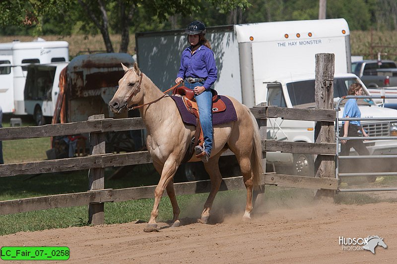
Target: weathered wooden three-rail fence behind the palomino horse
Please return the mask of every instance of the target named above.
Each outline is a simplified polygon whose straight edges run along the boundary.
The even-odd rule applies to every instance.
[[[326,109],[297,109],[281,107],[254,107],[251,111],[259,119],[262,137],[262,149],[265,157],[267,151],[281,151],[286,153],[335,155],[334,143],[303,143],[281,142],[265,140],[266,117],[282,117],[292,120],[330,121],[335,119],[334,110]],[[92,116],[88,121],[66,124],[54,124],[37,127],[10,127],[0,129],[1,140],[27,139],[39,137],[51,137],[62,135],[74,135],[90,133],[90,145],[92,154],[87,157],[64,158],[35,162],[23,162],[0,165],[0,177],[9,177],[18,174],[36,174],[48,172],[60,172],[89,169],[90,188],[87,192],[62,195],[51,195],[0,202],[0,214],[9,214],[25,211],[35,211],[53,208],[65,208],[73,206],[89,205],[89,220],[93,224],[103,223],[103,203],[121,202],[152,198],[155,186],[135,187],[126,189],[104,189],[104,168],[109,166],[125,166],[132,164],[151,163],[151,157],[147,151],[106,154],[104,133],[109,131],[124,131],[143,129],[141,118],[126,119],[98,119]],[[233,155],[227,151],[223,155]],[[265,159],[264,159],[265,164]],[[311,189],[336,190],[338,180],[334,177],[334,171],[326,172],[322,178],[264,173],[261,184],[271,184],[284,187],[298,187]],[[220,190],[235,190],[245,188],[242,177],[224,178]],[[209,192],[208,180],[176,183],[177,195],[196,194]]]

